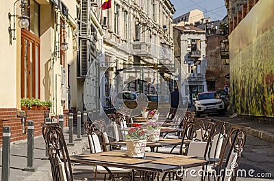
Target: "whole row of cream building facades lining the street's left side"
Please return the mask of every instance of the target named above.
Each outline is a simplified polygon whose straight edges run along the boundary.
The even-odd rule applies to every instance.
[[[123,81],[116,79],[115,83],[112,80],[124,68],[135,64],[152,67],[157,64],[158,68],[160,61],[171,63],[171,23],[175,9],[169,0],[112,1],[106,10],[101,8],[103,2],[3,2],[0,10],[10,16],[8,20],[3,16],[0,28],[3,35],[0,40],[3,79],[0,82],[5,85],[0,91],[0,137],[3,126],[14,125],[12,141],[26,139],[28,120],[36,121],[35,135],[40,135],[40,123],[45,117],[64,115],[66,123],[69,110],[87,109],[84,102],[86,79],[94,81],[89,87],[89,104],[92,113],[99,115],[99,108],[108,105],[108,99],[99,102],[99,96],[104,100],[110,96],[112,87],[117,90],[119,86],[123,87]],[[22,4],[25,4],[24,9]],[[18,27],[21,15],[29,17],[29,26]],[[26,25],[24,23],[26,21],[21,25]],[[127,51],[123,48],[125,45],[129,47]],[[144,48],[146,54],[142,52]],[[135,51],[134,55],[131,55],[132,51]],[[92,66],[94,62],[96,66]],[[101,71],[107,66],[112,68]],[[104,81],[100,84],[102,72]],[[169,72],[160,71],[160,74],[172,85]],[[134,76],[136,72],[126,74],[125,79]],[[143,72],[142,76],[145,81],[136,81],[129,88],[154,94],[156,84],[152,86],[149,84],[152,79],[145,79],[153,78],[153,75]],[[22,111],[22,98],[50,101],[52,107],[47,111]]]

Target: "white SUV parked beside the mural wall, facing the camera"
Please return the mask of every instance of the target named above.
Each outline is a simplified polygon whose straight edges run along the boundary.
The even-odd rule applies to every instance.
[[[200,117],[203,113],[225,114],[225,104],[221,98],[217,98],[216,92],[202,92],[195,101],[195,113]]]

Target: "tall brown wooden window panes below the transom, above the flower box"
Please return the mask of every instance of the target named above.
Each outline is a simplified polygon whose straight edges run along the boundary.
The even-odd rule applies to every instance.
[[[40,39],[21,29],[21,97],[40,98]]]

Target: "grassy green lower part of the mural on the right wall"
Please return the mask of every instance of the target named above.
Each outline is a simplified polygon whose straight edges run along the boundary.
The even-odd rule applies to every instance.
[[[273,40],[274,27],[231,59],[232,112],[274,117]]]

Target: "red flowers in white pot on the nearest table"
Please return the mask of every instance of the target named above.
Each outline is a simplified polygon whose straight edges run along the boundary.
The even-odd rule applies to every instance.
[[[136,125],[137,126],[137,125]],[[132,127],[125,135],[127,145],[127,154],[129,157],[140,158],[145,156],[145,147],[147,145],[147,136],[141,126]]]

